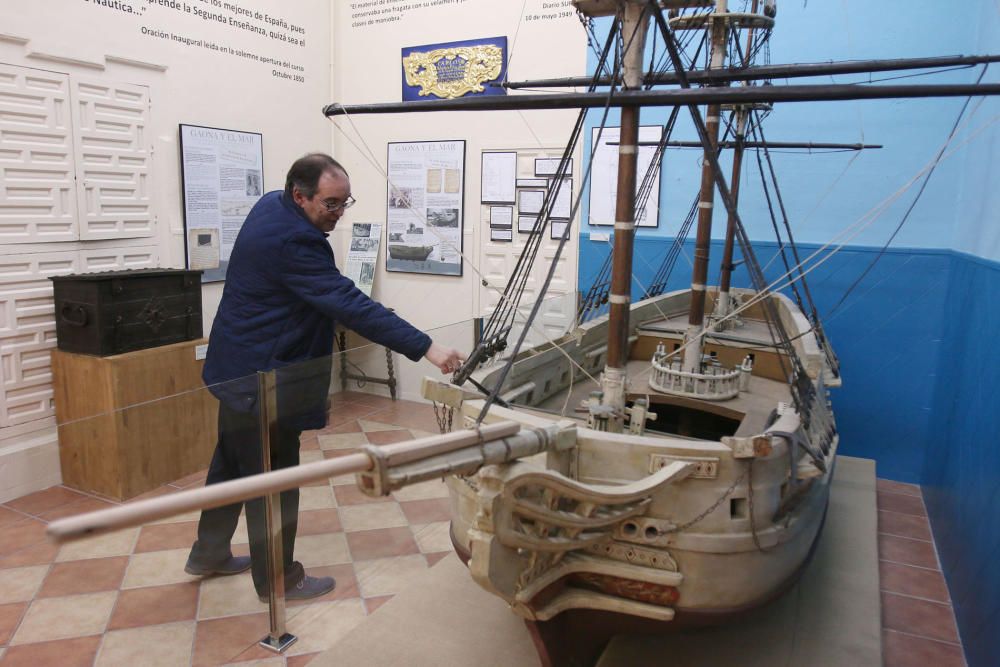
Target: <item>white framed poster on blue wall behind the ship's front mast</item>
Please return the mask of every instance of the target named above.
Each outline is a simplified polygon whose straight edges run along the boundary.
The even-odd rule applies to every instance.
[[[597,141],[600,128],[594,128],[591,143]],[[659,125],[643,125],[639,128],[639,141],[658,142],[663,129]],[[618,193],[618,139],[621,136],[620,127],[606,127],[601,132],[600,144],[594,152],[593,166],[590,177],[590,224],[615,224],[615,197]],[[656,146],[640,146],[635,181],[636,191],[643,177],[649,171],[649,165],[656,157]],[[653,188],[649,191],[646,206],[636,211],[637,227],[656,227],[660,210],[660,168],[656,167],[653,175]]]

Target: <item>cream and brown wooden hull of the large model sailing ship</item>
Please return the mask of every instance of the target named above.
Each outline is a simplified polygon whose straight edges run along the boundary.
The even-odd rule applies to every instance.
[[[838,445],[830,376],[806,318],[784,297],[770,298],[810,374],[808,419],[775,379],[784,367],[778,353],[762,353],[748,324],[716,341],[720,359],[757,351],[738,398],[706,402],[629,387],[679,433],[615,434],[578,423],[566,451],[449,478],[456,551],[483,588],[529,623],[544,661],[593,664],[591,649],[615,634],[728,622],[780,596],[808,562]],[[684,291],[633,305],[636,363],[651,346],[681,339],[670,314],[689,301]],[[542,346],[523,354],[507,395],[529,405],[493,407],[486,421],[530,428],[558,420],[538,408],[578,403],[560,394],[572,390],[558,386],[568,366],[563,352],[599,369],[605,336],[606,322],[596,321],[557,341],[562,352]],[[480,382],[489,386],[489,375]],[[466,400],[466,419],[481,406]],[[603,528],[587,524],[594,517]]]

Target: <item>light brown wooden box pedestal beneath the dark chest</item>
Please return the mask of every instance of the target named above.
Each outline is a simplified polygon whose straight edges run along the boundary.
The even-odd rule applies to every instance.
[[[126,500],[208,467],[218,402],[204,339],[110,357],[52,351],[63,483]]]

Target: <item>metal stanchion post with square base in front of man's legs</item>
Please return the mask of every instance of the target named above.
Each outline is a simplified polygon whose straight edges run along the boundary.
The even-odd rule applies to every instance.
[[[257,373],[257,397],[260,407],[260,445],[264,472],[271,470],[271,443],[278,439],[278,396],[275,371]],[[281,653],[295,643],[295,635],[285,630],[285,554],[282,548],[281,494],[264,499],[267,525],[268,611],[271,631],[260,640],[264,648]]]

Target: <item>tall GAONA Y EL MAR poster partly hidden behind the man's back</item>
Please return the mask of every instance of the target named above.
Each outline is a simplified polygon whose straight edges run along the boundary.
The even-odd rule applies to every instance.
[[[264,194],[262,137],[182,124],[180,148],[187,267],[202,282],[225,280],[236,235]]]

